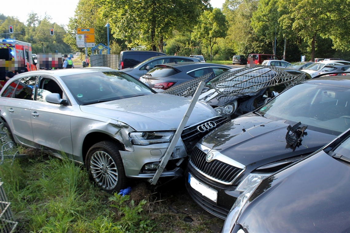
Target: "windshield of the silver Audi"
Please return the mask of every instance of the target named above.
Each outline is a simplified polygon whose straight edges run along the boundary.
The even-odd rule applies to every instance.
[[[91,72],[61,78],[80,105],[154,94],[146,85],[123,72]]]

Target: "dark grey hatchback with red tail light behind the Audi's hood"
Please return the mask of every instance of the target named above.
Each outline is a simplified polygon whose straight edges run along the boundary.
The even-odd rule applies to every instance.
[[[231,69],[230,66],[201,63],[201,62],[180,62],[156,65],[152,70],[140,77],[140,81],[146,83],[156,92],[179,85],[188,80],[210,74],[207,79]]]

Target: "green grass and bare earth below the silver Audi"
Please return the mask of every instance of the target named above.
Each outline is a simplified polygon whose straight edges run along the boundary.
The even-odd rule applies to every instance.
[[[123,197],[99,190],[68,159],[37,153],[11,162],[0,165],[0,177],[16,232],[218,232],[223,224],[191,201],[182,180],[163,189],[137,181]]]

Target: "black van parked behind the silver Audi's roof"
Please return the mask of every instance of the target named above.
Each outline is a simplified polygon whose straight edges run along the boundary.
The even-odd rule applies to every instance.
[[[157,51],[146,51],[146,50],[121,51],[119,54],[118,70],[135,66],[139,64],[141,61],[144,61],[151,57],[160,56],[160,55],[167,55],[167,54],[157,52]]]

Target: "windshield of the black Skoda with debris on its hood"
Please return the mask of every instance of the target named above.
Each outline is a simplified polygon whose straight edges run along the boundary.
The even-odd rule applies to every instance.
[[[298,122],[308,129],[338,135],[349,128],[350,105],[348,87],[302,83],[276,96],[256,111],[274,121],[290,125]]]

